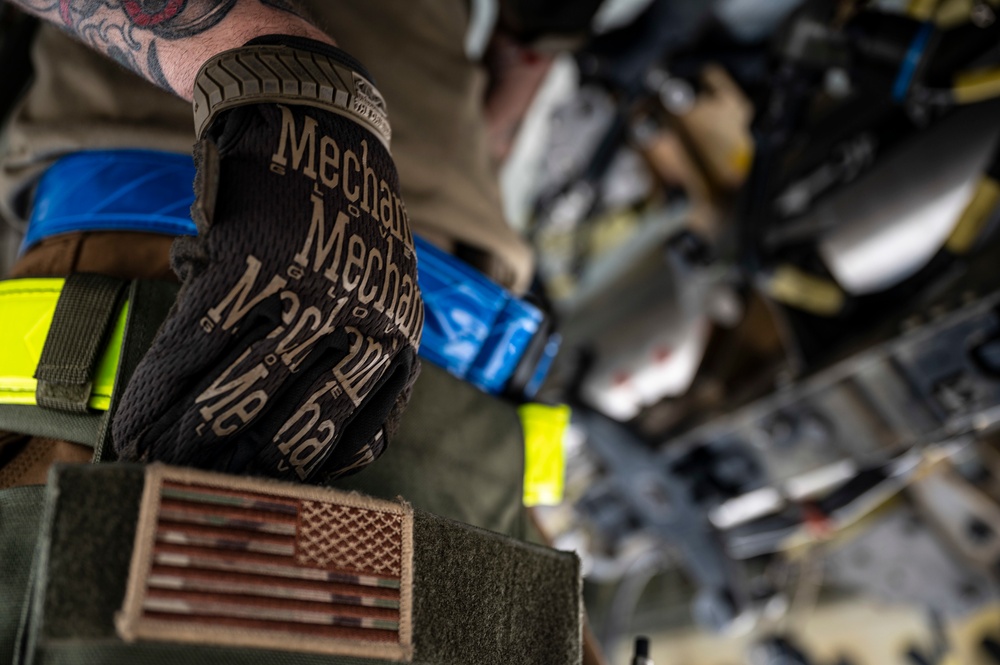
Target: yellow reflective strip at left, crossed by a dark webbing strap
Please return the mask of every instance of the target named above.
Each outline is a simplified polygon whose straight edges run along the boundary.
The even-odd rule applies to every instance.
[[[31,278],[0,281],[0,404],[35,405],[35,369],[52,326],[65,280]],[[122,307],[98,362],[88,405],[106,411],[111,404],[128,306]]]

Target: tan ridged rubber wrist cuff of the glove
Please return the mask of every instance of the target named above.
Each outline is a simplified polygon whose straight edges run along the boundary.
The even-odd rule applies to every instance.
[[[385,100],[361,64],[335,47],[291,39],[258,38],[205,61],[194,82],[195,135],[202,138],[220,113],[236,106],[284,103],[350,118],[388,150]]]

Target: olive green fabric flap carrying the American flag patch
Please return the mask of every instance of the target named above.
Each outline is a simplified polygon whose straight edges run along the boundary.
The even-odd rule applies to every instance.
[[[268,598],[240,595],[237,577]],[[320,602],[319,588],[346,591]],[[367,600],[344,600],[355,592]],[[45,490],[15,662],[570,664],[580,608],[574,555],[402,502],[63,465]]]

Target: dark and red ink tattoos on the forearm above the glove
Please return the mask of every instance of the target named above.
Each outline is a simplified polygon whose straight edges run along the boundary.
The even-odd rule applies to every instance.
[[[13,0],[162,88],[167,82],[157,54],[159,40],[182,40],[217,25],[250,0]],[[301,16],[289,0],[256,0]]]

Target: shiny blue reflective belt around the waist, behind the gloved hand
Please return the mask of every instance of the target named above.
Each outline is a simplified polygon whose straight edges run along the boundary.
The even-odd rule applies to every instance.
[[[22,251],[73,231],[197,235],[190,217],[194,175],[189,156],[154,150],[63,157],[39,181]],[[420,356],[485,392],[509,392],[515,370],[544,331],[545,314],[429,242],[414,243],[425,312]],[[541,385],[558,345],[557,336],[549,337],[538,357],[528,359],[534,366],[527,396]]]

